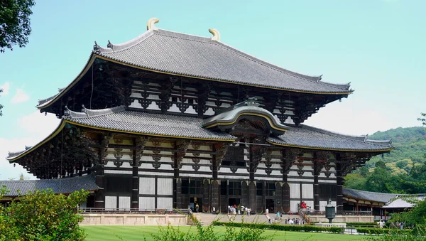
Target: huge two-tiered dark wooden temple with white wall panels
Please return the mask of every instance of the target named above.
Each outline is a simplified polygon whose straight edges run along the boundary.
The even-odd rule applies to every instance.
[[[302,124],[349,84],[259,60],[214,29],[206,38],[157,22],[126,43],[95,42],[81,73],[38,103],[58,128],[9,161],[40,179],[92,176],[88,207],[295,212],[331,198],[342,211],[346,173],[393,149]]]

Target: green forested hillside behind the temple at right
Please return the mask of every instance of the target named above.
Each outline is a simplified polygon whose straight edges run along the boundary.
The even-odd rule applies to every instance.
[[[425,127],[390,129],[376,132],[369,139],[392,139],[395,150],[373,157],[365,167],[346,176],[347,188],[383,193],[426,193]]]

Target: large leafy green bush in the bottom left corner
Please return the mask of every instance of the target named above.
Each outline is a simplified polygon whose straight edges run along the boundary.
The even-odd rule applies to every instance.
[[[0,188],[0,196],[5,191]],[[78,225],[83,217],[77,213],[77,205],[88,194],[76,191],[65,196],[43,190],[21,196],[6,208],[0,205],[0,241],[84,240],[86,235]]]

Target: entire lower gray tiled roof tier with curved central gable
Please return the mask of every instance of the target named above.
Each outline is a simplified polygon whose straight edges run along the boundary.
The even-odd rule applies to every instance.
[[[271,112],[258,112],[259,107],[247,108],[238,116],[229,114],[226,124],[234,124],[245,116],[256,116],[265,119],[268,126],[263,128],[281,128],[284,134],[271,135],[265,144],[288,146],[301,149],[319,149],[329,151],[357,151],[383,153],[391,151],[391,141],[373,141],[366,136],[349,136],[329,132],[307,125],[277,127],[276,119]],[[255,112],[256,111],[256,112]],[[269,113],[269,114],[268,114]],[[223,113],[222,113],[223,115]],[[109,109],[83,109],[82,112],[67,110],[62,122],[55,131],[40,144],[24,151],[9,152],[9,161],[17,161],[22,156],[31,153],[39,146],[60,134],[67,125],[84,127],[87,129],[117,132],[124,134],[138,134],[143,136],[169,137],[175,139],[198,139],[205,141],[236,141],[232,132],[205,127],[205,120],[195,117],[184,117],[179,114],[154,114],[127,110],[125,107]],[[221,124],[221,123],[219,123]],[[279,125],[279,124],[278,124]],[[285,129],[283,129],[285,127]],[[272,132],[272,131],[271,131]]]

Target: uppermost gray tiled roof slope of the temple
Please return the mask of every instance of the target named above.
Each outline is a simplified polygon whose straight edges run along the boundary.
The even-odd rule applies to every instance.
[[[178,75],[307,92],[350,92],[349,84],[322,82],[259,60],[210,38],[158,30],[96,51],[111,60]]]

